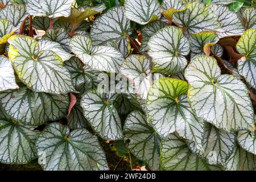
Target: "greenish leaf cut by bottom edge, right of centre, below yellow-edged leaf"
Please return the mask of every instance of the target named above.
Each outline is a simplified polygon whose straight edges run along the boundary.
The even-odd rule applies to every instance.
[[[174,134],[162,140],[160,146],[160,166],[163,170],[174,171],[208,171],[220,170],[211,166],[189,150],[186,142]]]

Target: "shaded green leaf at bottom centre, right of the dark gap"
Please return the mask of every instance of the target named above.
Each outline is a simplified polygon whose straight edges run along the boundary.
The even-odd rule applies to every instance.
[[[148,125],[146,115],[139,111],[130,113],[123,126],[125,139],[129,139],[128,148],[139,160],[153,170],[159,169],[160,139],[154,129]]]

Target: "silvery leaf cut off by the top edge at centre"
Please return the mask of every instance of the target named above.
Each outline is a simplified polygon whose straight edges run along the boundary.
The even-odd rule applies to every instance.
[[[160,17],[158,0],[126,0],[125,15],[139,24],[147,24]]]

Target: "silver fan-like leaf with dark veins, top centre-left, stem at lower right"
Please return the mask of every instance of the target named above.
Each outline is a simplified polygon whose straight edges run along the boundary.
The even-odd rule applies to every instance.
[[[123,7],[116,6],[97,18],[90,30],[93,45],[109,40],[121,40],[131,34],[130,20],[123,13]]]

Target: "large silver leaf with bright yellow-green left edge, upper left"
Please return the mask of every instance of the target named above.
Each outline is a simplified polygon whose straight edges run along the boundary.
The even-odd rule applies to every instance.
[[[10,61],[28,88],[56,94],[75,91],[71,76],[56,53],[40,51],[38,42],[28,36],[14,35],[8,42]]]

